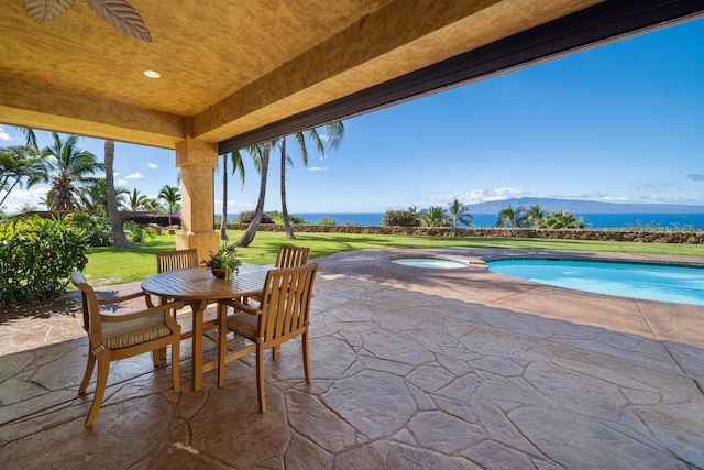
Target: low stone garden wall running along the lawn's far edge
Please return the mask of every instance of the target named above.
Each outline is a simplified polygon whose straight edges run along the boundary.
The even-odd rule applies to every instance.
[[[246,230],[243,223],[228,223],[231,230]],[[260,231],[283,232],[284,226],[260,223]],[[649,231],[649,230],[593,230],[593,229],[495,229],[446,227],[366,227],[366,226],[315,226],[296,225],[298,233],[366,233],[366,234],[415,234],[427,237],[481,237],[481,238],[541,238],[559,240],[601,240],[641,243],[704,243],[703,231]]]

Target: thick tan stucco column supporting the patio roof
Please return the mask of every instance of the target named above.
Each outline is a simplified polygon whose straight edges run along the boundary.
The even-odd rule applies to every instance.
[[[176,144],[176,166],[180,168],[182,230],[176,249],[195,248],[198,259],[218,251],[215,225],[212,171],[218,165],[218,144],[186,139]]]

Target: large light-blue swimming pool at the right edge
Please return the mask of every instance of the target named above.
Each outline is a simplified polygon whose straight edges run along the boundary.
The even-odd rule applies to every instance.
[[[488,260],[490,271],[559,287],[704,305],[704,266],[565,259]]]

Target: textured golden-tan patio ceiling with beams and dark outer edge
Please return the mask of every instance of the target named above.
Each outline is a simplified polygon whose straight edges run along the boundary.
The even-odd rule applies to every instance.
[[[44,24],[2,0],[0,122],[224,153],[704,11],[702,0],[129,3],[153,42],[86,0]]]

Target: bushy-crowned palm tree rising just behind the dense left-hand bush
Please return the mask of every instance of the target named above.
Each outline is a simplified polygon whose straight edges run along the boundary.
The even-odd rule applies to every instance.
[[[52,132],[52,136],[54,144],[41,152],[52,182],[46,195],[48,209],[73,211],[78,187],[89,184],[92,178],[87,175],[103,171],[105,165],[92,153],[76,147],[78,135],[69,135],[66,141],[56,132]]]

